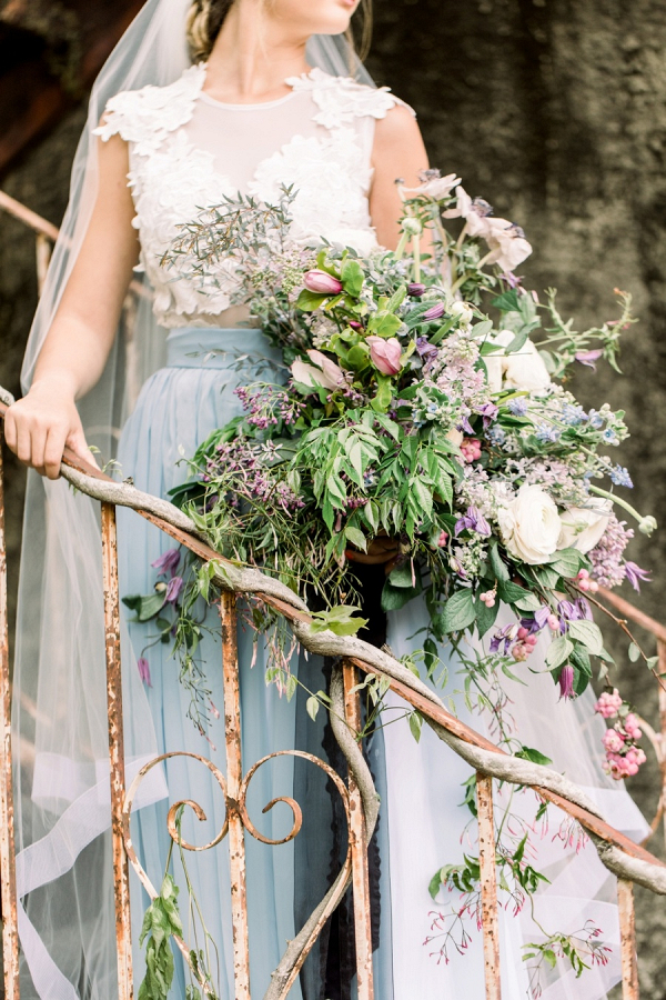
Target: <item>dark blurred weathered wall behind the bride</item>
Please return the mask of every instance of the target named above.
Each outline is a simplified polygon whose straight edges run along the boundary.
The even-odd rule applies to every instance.
[[[558,288],[579,328],[614,318],[615,286],[633,292],[642,321],[626,334],[625,378],[585,371],[573,389],[588,406],[627,410],[633,437],[620,460],[636,483],[632,500],[666,524],[666,3],[375,2],[370,70],[417,110],[432,163],[524,227],[535,247],[521,268],[527,283]],[[2,134],[14,137],[11,148],[0,137],[0,184],[51,222],[67,201],[81,97],[131,8],[0,0],[0,107],[11,118]],[[0,384],[14,393],[34,304],[33,239],[0,213]],[[11,460],[8,471],[16,581],[23,474]],[[639,536],[632,558],[654,573],[640,607],[666,622],[665,553],[660,531]],[[658,722],[654,681],[614,632],[607,643],[625,694]],[[652,816],[654,757],[630,789]],[[650,847],[663,854],[662,844],[659,833]],[[666,902],[637,898],[642,996],[663,1000]]]

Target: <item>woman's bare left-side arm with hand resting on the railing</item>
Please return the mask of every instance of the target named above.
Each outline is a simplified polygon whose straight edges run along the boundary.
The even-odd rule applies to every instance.
[[[139,241],[128,188],[128,147],[99,141],[99,193],[88,232],[40,351],[30,392],[7,411],[7,443],[21,461],[57,479],[64,447],[91,460],[75,400],[99,380]]]

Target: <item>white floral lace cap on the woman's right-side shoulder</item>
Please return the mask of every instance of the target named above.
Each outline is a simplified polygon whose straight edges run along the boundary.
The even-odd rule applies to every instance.
[[[285,82],[296,91],[312,91],[320,109],[314,120],[325,129],[351,124],[355,118],[385,118],[397,104],[416,117],[414,109],[391,93],[389,87],[369,87],[351,77],[331,77],[317,68],[303,77],[290,77]]]

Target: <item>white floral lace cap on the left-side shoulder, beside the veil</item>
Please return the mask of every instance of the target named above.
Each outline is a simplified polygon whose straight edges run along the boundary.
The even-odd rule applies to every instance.
[[[163,87],[149,83],[139,90],[123,90],[107,102],[94,134],[104,142],[120,136],[134,143],[138,152],[152,152],[169,132],[190,120],[204,80],[205,66],[199,63]]]

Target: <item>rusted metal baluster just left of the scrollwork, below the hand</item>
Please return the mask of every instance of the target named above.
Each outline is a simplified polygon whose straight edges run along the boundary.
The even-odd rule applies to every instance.
[[[104,636],[107,646],[107,709],[109,714],[109,762],[111,766],[111,838],[113,846],[113,893],[118,947],[119,1000],[132,1000],[132,929],[130,878],[122,836],[125,799],[124,739],[122,727],[122,674],[120,666],[120,602],[118,592],[118,539],[115,508],[102,503],[102,562],[104,583]]]

